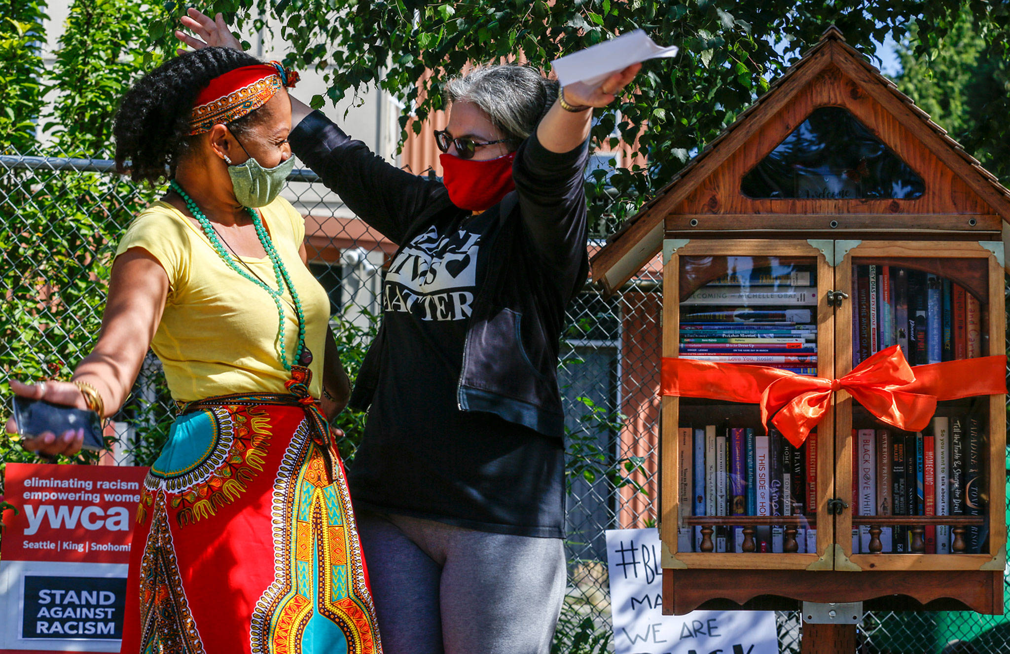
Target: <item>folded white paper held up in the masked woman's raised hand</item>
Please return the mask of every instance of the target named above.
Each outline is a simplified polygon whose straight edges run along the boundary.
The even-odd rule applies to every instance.
[[[632,64],[660,57],[674,57],[677,45],[662,48],[641,29],[597,43],[550,63],[562,86],[573,82],[599,84]]]

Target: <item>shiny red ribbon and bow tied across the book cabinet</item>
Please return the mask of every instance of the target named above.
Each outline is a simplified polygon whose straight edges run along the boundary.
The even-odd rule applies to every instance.
[[[663,360],[661,384],[664,395],[761,404],[765,429],[771,417],[783,436],[800,447],[823,419],[837,390],[848,391],[882,422],[920,432],[939,400],[1005,393],[1006,365],[1005,356],[994,356],[913,368],[901,348],[891,346],[850,373],[825,379],[764,366],[669,358]]]

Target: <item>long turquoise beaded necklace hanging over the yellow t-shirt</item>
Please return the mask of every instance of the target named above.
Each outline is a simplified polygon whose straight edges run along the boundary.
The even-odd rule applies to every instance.
[[[288,275],[288,269],[284,267],[284,262],[281,261],[280,255],[277,254],[277,250],[274,248],[274,242],[271,241],[270,235],[267,233],[267,229],[263,226],[263,220],[260,217],[260,212],[252,207],[245,207],[252,218],[252,226],[256,227],[257,237],[260,239],[260,245],[263,246],[264,251],[267,256],[270,257],[270,263],[274,268],[274,276],[277,279],[277,288],[271,288],[269,284],[261,280],[259,277],[254,277],[249,275],[244,270],[239,268],[235,264],[234,257],[230,256],[224,250],[224,245],[217,236],[217,231],[214,226],[210,224],[210,220],[207,218],[206,214],[200,210],[196,202],[191,198],[183,187],[179,185],[179,182],[172,180],[171,183],[172,190],[179,194],[179,197],[186,202],[186,207],[196,218],[197,222],[203,228],[204,235],[206,235],[207,240],[210,241],[210,245],[217,252],[217,255],[228,265],[231,270],[235,271],[245,279],[249,280],[260,288],[264,289],[270,296],[274,299],[274,304],[277,306],[277,329],[278,329],[278,344],[281,351],[281,364],[284,369],[291,372],[293,364],[288,363],[288,355],[284,347],[284,305],[281,303],[284,297],[284,289],[287,287],[288,292],[291,293],[291,298],[295,302],[295,315],[298,317],[298,348],[295,350],[295,361],[297,361],[302,366],[307,366],[312,362],[312,354],[309,352],[308,348],[305,347],[305,314],[302,311],[302,301],[298,297],[298,291],[295,290],[295,285],[291,282],[291,276]]]

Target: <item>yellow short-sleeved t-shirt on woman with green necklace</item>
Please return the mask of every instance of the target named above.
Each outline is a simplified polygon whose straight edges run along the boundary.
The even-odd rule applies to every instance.
[[[302,302],[305,345],[312,352],[309,391],[319,397],[329,298],[298,254],[305,222],[281,197],[260,213]],[[130,223],[116,256],[130,248],[146,250],[169,275],[165,312],[150,347],[165,367],[174,399],[288,392],[284,382],[291,374],[280,360],[277,305],[266,290],[221,259],[199,225],[171,204],[155,202]],[[270,258],[241,260],[277,288]],[[298,346],[298,319],[287,290],[282,306],[285,353],[291,363]]]

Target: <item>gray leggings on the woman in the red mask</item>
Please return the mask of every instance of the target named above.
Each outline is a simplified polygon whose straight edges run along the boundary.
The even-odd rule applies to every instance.
[[[361,511],[385,654],[541,654],[565,597],[561,539]]]

